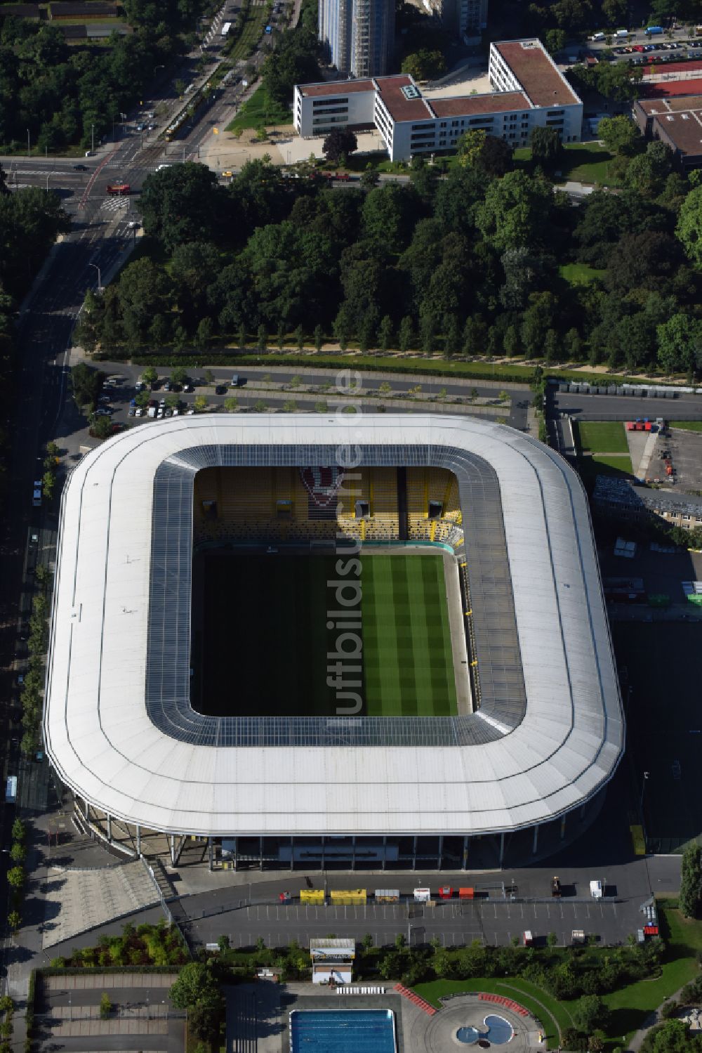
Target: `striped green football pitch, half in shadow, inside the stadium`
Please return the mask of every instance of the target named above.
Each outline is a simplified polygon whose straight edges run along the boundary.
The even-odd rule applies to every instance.
[[[363,554],[360,576],[340,578],[344,556],[207,554],[203,569],[202,712],[216,715],[335,716],[327,671],[343,625],[339,580],[360,582],[361,672],[343,662],[341,689],[358,692],[364,716],[449,716],[456,683],[440,555]],[[346,593],[347,596],[350,592]],[[358,614],[359,608],[350,608]],[[336,619],[335,619],[336,620]],[[359,620],[359,619],[357,619]],[[347,641],[342,647],[353,645]]]

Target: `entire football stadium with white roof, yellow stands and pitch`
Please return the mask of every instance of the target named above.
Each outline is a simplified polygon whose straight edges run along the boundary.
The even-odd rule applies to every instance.
[[[502,861],[582,817],[623,737],[585,494],[528,436],[199,415],[67,480],[44,739],[123,851],[465,869],[490,837]]]

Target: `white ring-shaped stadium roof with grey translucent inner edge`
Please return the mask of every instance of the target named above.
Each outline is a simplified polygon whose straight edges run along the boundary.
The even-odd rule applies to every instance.
[[[503,537],[503,555],[497,542],[493,555],[476,550],[506,568],[504,610],[477,624],[481,681],[493,697],[465,724],[406,718],[393,726],[397,737],[381,732],[365,744],[382,723],[366,718],[361,744],[310,746],[307,726],[286,738],[287,718],[273,731],[256,730],[263,724],[255,719],[242,731],[189,709],[196,471],[232,457],[324,464],[338,446],[367,449],[367,463],[379,462],[379,451],[402,463],[410,451],[404,463],[462,464],[469,573],[466,516],[480,516],[483,491],[485,508],[500,512],[483,526]],[[277,461],[266,461],[272,451]],[[308,459],[293,459],[301,456]],[[490,567],[497,594],[496,573]],[[473,579],[470,589],[477,608]],[[507,655],[502,678],[498,651]],[[236,662],[236,647],[233,655]],[[417,738],[422,727],[426,737]],[[565,814],[607,782],[624,736],[582,485],[541,443],[464,417],[201,415],[124,432],[87,454],[63,493],[44,735],[81,798],[172,833],[470,834]]]

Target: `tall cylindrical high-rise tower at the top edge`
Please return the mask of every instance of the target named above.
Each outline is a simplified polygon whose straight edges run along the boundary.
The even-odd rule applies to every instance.
[[[394,0],[320,0],[319,39],[343,77],[387,73],[395,43]]]

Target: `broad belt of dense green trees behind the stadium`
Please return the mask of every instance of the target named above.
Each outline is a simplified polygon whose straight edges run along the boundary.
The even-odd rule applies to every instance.
[[[198,164],[155,173],[143,223],[167,263],[142,257],[89,294],[77,339],[107,353],[204,351],[240,332],[319,326],[362,350],[694,373],[702,186],[663,143],[625,132],[613,133],[625,188],[578,206],[544,171],[558,163],[551,130],[530,171],[502,140],[469,133],[445,175],[418,159],[408,184],[374,185],[374,173],[343,193],[265,160],[227,187]],[[568,280],[568,263],[587,264],[586,280]]]

